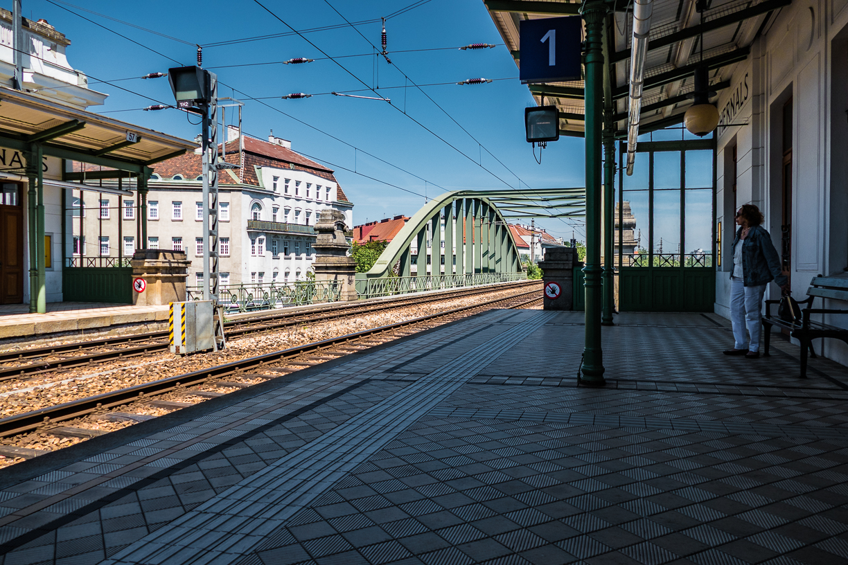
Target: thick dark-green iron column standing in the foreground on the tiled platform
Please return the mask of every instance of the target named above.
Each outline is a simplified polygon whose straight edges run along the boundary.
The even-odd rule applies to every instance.
[[[600,266],[600,158],[601,109],[603,95],[604,53],[603,26],[607,8],[603,0],[587,0],[581,8],[586,24],[586,266],[583,268],[586,285],[586,344],[580,382],[589,386],[604,386],[604,360],[600,343],[601,296]]]

